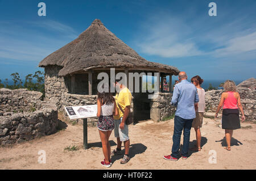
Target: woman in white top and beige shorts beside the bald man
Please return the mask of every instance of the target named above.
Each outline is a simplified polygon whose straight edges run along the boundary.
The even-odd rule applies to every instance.
[[[199,102],[195,106],[196,118],[192,122],[192,128],[195,128],[196,131],[196,148],[192,148],[193,151],[201,150],[201,131],[200,128],[203,125],[203,117],[205,110],[205,91],[200,87],[201,83],[204,82],[199,75],[191,78],[191,82],[196,86],[197,93],[199,95]]]

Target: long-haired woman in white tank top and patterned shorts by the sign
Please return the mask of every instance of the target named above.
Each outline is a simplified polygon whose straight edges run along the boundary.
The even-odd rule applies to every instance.
[[[114,129],[114,116],[118,115],[117,104],[112,93],[109,92],[98,92],[98,122],[97,128],[100,133],[102,150],[104,154],[104,161],[101,162],[102,166],[110,167],[112,165],[110,160],[110,144],[109,137]]]

